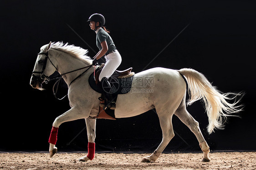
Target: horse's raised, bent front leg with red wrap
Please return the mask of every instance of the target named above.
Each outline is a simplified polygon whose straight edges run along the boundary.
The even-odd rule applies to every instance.
[[[82,118],[88,117],[88,115],[89,113],[85,112],[84,109],[78,109],[77,107],[73,107],[67,112],[63,113],[62,115],[56,117],[56,119],[52,124],[51,135],[49,138],[50,157],[52,157],[57,152],[57,147],[55,145],[57,142],[57,134],[58,134],[59,126],[64,122],[82,119]]]

